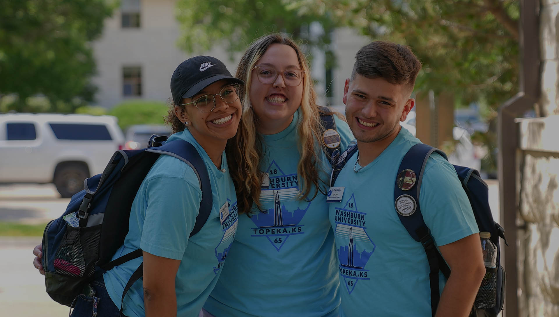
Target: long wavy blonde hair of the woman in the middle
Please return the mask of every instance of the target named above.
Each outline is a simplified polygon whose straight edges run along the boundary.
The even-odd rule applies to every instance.
[[[316,92],[310,76],[309,64],[305,54],[290,37],[280,33],[262,36],[250,44],[247,51],[241,57],[237,66],[235,77],[244,80],[245,87],[240,89],[241,103],[243,104],[243,118],[239,123],[239,131],[231,138],[226,147],[228,155],[229,170],[235,189],[239,212],[249,212],[255,203],[258,209],[262,209],[259,201],[260,185],[262,182],[262,171],[260,171],[260,160],[264,156],[262,136],[257,133],[255,116],[250,103],[248,87],[253,80],[252,69],[269,46],[272,44],[283,44],[292,47],[297,54],[299,64],[305,71],[303,76],[303,94],[300,105],[300,123],[297,127],[299,142],[297,150],[300,153],[297,174],[302,177],[299,199],[314,199],[318,192],[325,193],[325,183],[320,180],[317,165],[320,164],[321,151],[325,148],[321,142],[324,127],[320,123],[319,106],[316,104]],[[328,112],[330,114],[331,112]],[[321,182],[322,184],[319,184]],[[314,193],[311,194],[312,186]]]

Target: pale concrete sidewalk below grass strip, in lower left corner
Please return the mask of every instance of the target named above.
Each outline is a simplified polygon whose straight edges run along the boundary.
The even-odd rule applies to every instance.
[[[60,317],[69,308],[50,299],[45,277],[33,267],[41,237],[0,237],[0,316]]]

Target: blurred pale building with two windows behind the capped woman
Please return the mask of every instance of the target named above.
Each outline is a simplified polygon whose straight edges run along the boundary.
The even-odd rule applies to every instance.
[[[111,108],[127,99],[165,102],[170,97],[170,76],[191,57],[178,49],[179,26],[174,17],[174,0],[121,1],[121,8],[105,20],[102,36],[92,44],[98,105]],[[219,58],[233,72],[236,64],[224,50],[205,54]]]

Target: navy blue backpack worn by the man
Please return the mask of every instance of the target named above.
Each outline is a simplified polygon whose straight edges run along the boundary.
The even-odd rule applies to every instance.
[[[334,186],[340,170],[342,170],[345,163],[356,151],[357,142],[353,141],[336,162],[330,177],[330,186]],[[420,242],[425,249],[430,269],[431,310],[434,316],[440,299],[439,271],[448,278],[451,270],[435,246],[430,230],[423,221],[423,215],[421,215],[419,207],[419,190],[421,188],[423,171],[427,164],[427,159],[433,152],[439,153],[448,160],[443,151],[423,143],[411,147],[404,158],[402,158],[398,175],[395,175],[394,201],[395,211],[400,221],[408,230],[410,236],[415,241]],[[493,220],[489,207],[489,188],[485,181],[481,179],[479,172],[469,167],[457,165],[454,165],[454,169],[458,174],[458,179],[462,182],[462,188],[468,195],[480,232],[486,231],[491,233],[491,242],[495,244],[498,250],[497,266],[495,268],[486,268],[486,274],[477,292],[470,316],[497,316],[503,310],[505,300],[505,270],[500,265],[501,251],[499,245],[499,237],[501,237],[508,246],[504,236],[504,229]],[[406,186],[405,183],[409,180],[409,178],[406,180],[406,177],[415,177],[416,179],[413,182],[408,182]],[[413,207],[410,208],[408,205]],[[400,212],[397,210],[399,208],[401,209]],[[406,214],[406,210],[410,210],[410,213]]]

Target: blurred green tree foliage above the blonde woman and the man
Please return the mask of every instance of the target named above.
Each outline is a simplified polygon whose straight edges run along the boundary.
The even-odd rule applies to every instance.
[[[256,37],[283,31],[329,51],[329,32],[356,28],[371,40],[410,45],[423,62],[416,88],[452,92],[462,103],[496,107],[518,90],[519,4],[515,0],[179,0],[179,44],[242,51]],[[325,32],[312,38],[305,26]],[[327,54],[331,59],[335,56]]]

